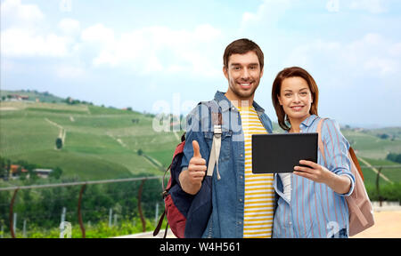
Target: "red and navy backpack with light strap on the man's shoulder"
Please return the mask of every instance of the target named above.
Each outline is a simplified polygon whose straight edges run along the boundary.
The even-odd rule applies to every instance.
[[[211,113],[214,113],[210,107],[212,104],[210,101],[201,103],[209,107]],[[202,181],[201,190],[194,196],[185,193],[178,183],[181,163],[184,156],[185,133],[181,137],[181,143],[176,146],[173,161],[170,166],[168,166],[166,172],[164,172],[162,180],[165,211],[160,217],[159,223],[153,232],[153,236],[159,234],[164,216],[166,216],[168,220],[164,238],[167,236],[168,225],[178,238],[200,238],[205,230],[212,211],[211,177],[215,164],[217,165],[217,179],[220,179],[218,175],[218,156],[221,148],[221,114],[218,113],[218,117],[219,122],[214,126],[214,137],[209,156],[208,172]],[[168,171],[170,171],[170,179],[168,180],[167,188],[165,188],[164,178]]]

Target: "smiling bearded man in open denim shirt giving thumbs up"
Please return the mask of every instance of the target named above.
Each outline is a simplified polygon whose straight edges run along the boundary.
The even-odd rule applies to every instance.
[[[203,237],[271,237],[273,175],[251,170],[251,134],[272,131],[264,109],[253,100],[263,76],[263,52],[258,44],[239,39],[226,47],[223,59],[228,89],[217,92],[214,99],[223,132],[212,177],[213,208]],[[202,104],[187,117],[179,182],[188,194],[196,195],[201,189],[213,141],[211,124],[217,119]]]

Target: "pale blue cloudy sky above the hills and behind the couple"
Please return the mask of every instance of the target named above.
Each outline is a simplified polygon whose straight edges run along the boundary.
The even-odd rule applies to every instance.
[[[276,121],[274,77],[299,66],[319,116],[401,126],[401,1],[1,0],[2,90],[37,90],[106,107],[186,115],[226,92],[226,45],[265,54],[255,100]]]

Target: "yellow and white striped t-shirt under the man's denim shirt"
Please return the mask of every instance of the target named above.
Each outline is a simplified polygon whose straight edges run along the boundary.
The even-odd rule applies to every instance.
[[[243,237],[271,237],[274,218],[273,174],[252,173],[252,134],[267,133],[253,107],[238,107],[245,146]]]

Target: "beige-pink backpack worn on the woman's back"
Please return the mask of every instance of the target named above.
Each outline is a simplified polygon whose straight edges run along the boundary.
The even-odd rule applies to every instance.
[[[321,136],[324,120],[325,119],[321,119],[319,124],[317,124],[317,133],[319,134],[319,150],[322,153],[324,163],[327,165]],[[361,166],[356,158],[354,149],[351,147],[349,147],[348,150],[348,158],[351,162],[351,172],[355,176],[354,191],[350,196],[346,197],[349,213],[349,236],[355,236],[364,231],[364,229],[372,227],[374,225],[374,219],[372,204],[366,193],[366,188],[364,188],[364,174],[361,171]]]

